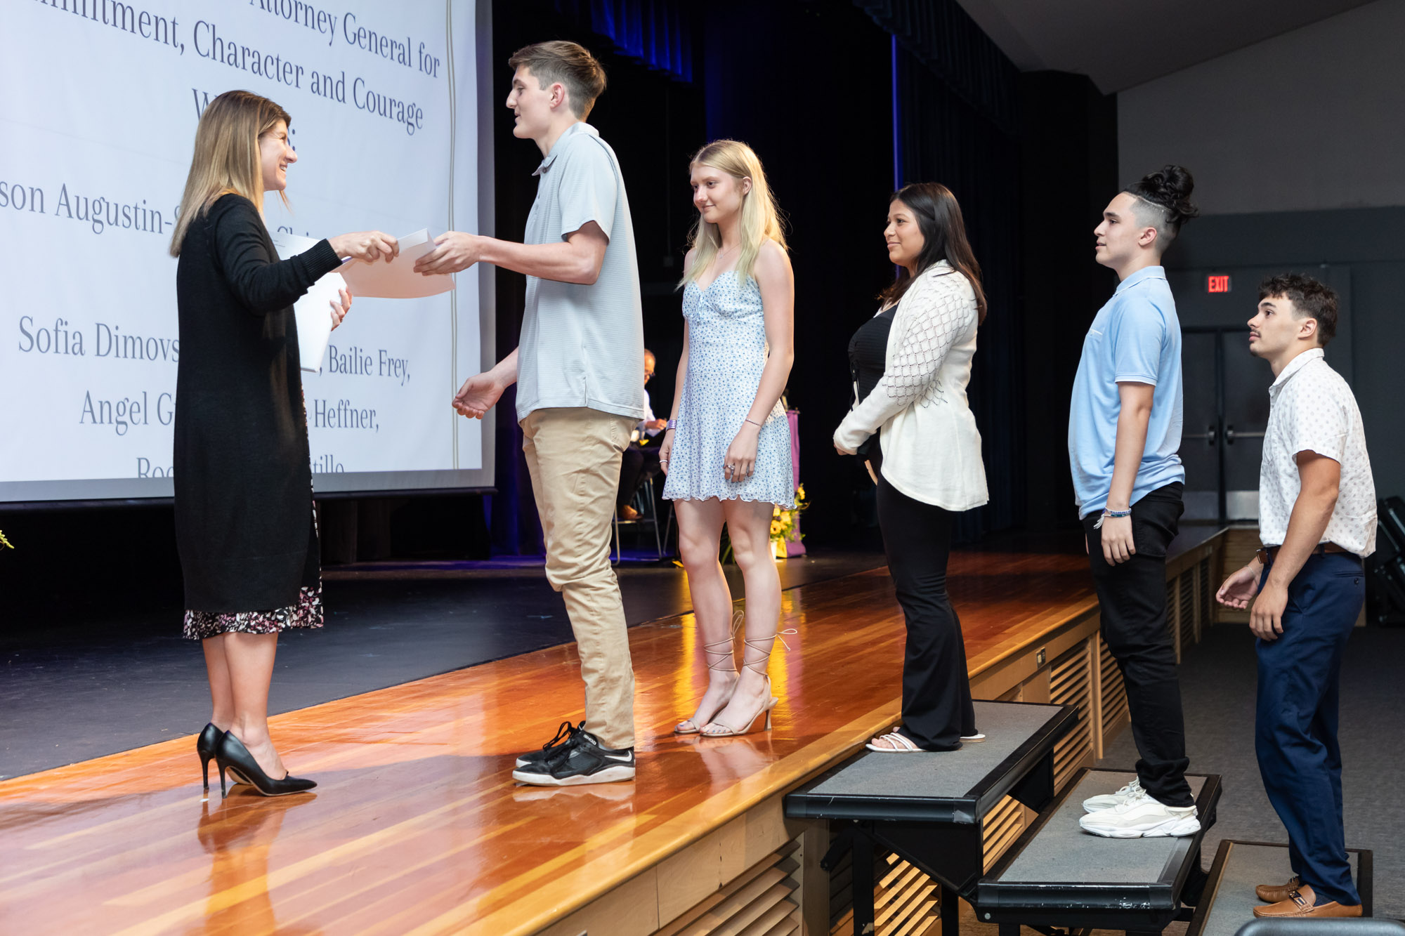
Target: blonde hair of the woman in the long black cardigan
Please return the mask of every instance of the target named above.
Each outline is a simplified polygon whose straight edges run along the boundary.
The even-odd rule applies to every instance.
[[[180,200],[180,216],[171,235],[171,256],[178,257],[190,225],[221,195],[233,193],[254,202],[263,214],[263,171],[259,138],[291,124],[288,111],[251,91],[225,91],[205,107],[195,128],[195,155]],[[282,194],[282,193],[280,193]],[[288,197],[282,195],[284,204]]]

